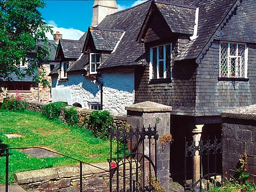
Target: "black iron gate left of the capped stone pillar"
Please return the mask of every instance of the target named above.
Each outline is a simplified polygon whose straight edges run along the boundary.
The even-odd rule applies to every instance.
[[[110,192],[152,191],[157,179],[157,128],[112,130],[110,138]]]

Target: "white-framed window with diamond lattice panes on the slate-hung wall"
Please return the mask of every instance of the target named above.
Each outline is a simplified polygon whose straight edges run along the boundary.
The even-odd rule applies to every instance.
[[[247,46],[220,42],[219,77],[247,78]]]

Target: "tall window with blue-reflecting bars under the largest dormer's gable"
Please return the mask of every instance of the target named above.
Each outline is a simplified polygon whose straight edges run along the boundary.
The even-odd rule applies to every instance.
[[[171,49],[172,44],[150,48],[150,79],[171,78]]]

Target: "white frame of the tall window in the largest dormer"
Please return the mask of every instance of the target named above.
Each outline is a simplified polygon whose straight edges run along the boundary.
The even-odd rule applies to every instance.
[[[169,46],[169,77],[168,77],[168,58],[166,55],[166,46]],[[162,48],[162,54],[160,48]],[[156,52],[154,53],[154,49]],[[172,69],[171,69],[171,61],[172,61],[172,43],[168,44],[158,44],[157,46],[151,46],[149,49],[150,55],[150,65],[149,65],[149,79],[150,80],[166,80],[171,79],[172,77]],[[156,58],[154,58],[156,57]],[[155,62],[155,65],[154,65]],[[162,63],[162,64],[161,64]]]

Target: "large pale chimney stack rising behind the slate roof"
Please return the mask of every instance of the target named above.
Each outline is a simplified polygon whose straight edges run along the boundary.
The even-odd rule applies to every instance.
[[[98,26],[105,16],[115,13],[117,9],[116,0],[94,0],[91,26]]]

